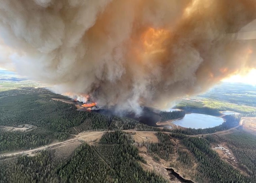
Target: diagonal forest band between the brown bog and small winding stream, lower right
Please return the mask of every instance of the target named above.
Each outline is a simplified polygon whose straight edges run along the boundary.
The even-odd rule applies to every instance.
[[[197,170],[200,173],[196,176],[198,182],[212,183],[250,183],[255,182],[252,177],[241,174],[230,164],[221,160],[218,153],[210,148],[209,142],[204,138],[187,137],[182,134],[171,134],[180,138],[181,143],[186,146],[199,162]],[[184,156],[183,158],[187,158]],[[189,161],[190,158],[188,158]]]

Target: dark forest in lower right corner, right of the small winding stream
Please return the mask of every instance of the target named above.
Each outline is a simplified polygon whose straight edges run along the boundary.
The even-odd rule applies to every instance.
[[[244,131],[221,136],[238,160],[239,166],[256,181],[256,136]]]

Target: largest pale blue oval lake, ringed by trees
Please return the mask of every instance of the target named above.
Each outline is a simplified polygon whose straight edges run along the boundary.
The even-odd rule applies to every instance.
[[[221,125],[224,122],[222,118],[205,114],[186,114],[184,118],[174,121],[175,125],[186,128],[210,128]]]

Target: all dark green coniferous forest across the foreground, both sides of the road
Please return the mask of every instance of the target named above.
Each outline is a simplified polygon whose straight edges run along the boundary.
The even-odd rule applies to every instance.
[[[196,166],[194,181],[199,183],[256,182],[256,138],[236,128],[221,137],[214,133],[237,127],[239,116],[224,116],[225,122],[206,129],[162,129],[130,118],[78,111],[72,104],[53,100],[68,99],[43,88],[21,88],[0,92],[0,154],[42,147],[64,141],[83,131],[109,131],[97,143],[82,143],[66,159],[58,159],[52,150],[33,156],[0,159],[0,183],[5,182],[168,182],[154,171],[143,169],[146,159],[129,132],[155,131],[156,142],[141,143],[154,161],[171,161]],[[182,117],[184,112],[162,112],[162,120]],[[30,126],[25,131],[5,127]],[[134,131],[133,131],[134,130]],[[131,131],[130,131],[131,132]],[[195,136],[190,136],[195,135]],[[175,140],[175,141],[174,141]],[[176,142],[177,141],[177,142]],[[237,158],[238,169],[211,149],[212,143],[225,142]],[[176,153],[176,156],[174,156]],[[170,163],[171,164],[171,163]],[[241,173],[243,170],[244,173]]]

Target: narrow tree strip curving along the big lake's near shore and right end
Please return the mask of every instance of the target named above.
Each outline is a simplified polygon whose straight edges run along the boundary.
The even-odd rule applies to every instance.
[[[225,118],[226,122],[222,123],[219,126],[211,127],[211,128],[179,128],[179,129],[163,129],[164,131],[170,131],[174,133],[183,133],[187,135],[198,135],[198,134],[207,134],[207,133],[215,133],[217,131],[228,130],[239,125],[240,117],[235,115],[226,115]]]

